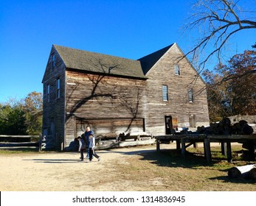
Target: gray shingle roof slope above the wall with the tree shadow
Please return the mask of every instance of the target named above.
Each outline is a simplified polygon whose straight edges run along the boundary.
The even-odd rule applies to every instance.
[[[53,46],[56,51],[58,51],[66,68],[122,77],[146,78],[138,60],[129,60],[122,57],[72,49],[65,46]]]

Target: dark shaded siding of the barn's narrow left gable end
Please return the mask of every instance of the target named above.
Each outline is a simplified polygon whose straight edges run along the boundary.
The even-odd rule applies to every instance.
[[[55,55],[54,67],[52,67],[52,54]],[[65,143],[65,70],[58,52],[52,47],[42,81],[44,84],[43,134],[46,135],[46,147],[55,147],[57,150],[62,150]],[[60,98],[57,96],[57,79],[60,79]]]

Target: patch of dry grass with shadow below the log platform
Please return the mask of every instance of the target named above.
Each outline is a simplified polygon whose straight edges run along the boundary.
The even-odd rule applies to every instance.
[[[229,168],[248,161],[235,159],[235,163],[228,163],[226,157],[218,154],[221,151],[217,148],[212,151],[212,164],[201,155],[204,154],[201,149],[193,149],[185,158],[174,150],[162,149],[131,157],[128,164],[118,160],[114,164],[120,181],[129,180],[134,187],[147,184],[149,191],[256,191],[255,180],[229,179],[227,175]]]

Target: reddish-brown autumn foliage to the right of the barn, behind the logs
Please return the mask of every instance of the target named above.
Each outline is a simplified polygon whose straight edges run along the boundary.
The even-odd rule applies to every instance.
[[[235,54],[226,65],[204,71],[211,121],[256,115],[256,51]]]

